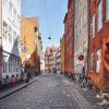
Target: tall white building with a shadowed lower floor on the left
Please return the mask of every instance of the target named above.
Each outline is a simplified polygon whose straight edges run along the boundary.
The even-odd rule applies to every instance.
[[[20,36],[21,0],[2,0],[2,80],[9,82],[21,75]]]

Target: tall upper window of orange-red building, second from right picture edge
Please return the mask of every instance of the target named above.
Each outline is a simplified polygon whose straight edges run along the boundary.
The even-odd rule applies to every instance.
[[[98,31],[102,27],[102,0],[98,4]]]

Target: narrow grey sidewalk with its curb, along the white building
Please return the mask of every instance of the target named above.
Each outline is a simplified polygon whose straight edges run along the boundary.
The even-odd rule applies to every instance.
[[[11,94],[13,94],[13,93],[15,93],[15,92],[28,86],[29,84],[34,83],[37,80],[37,77],[38,76],[35,76],[34,78],[29,80],[28,83],[21,83],[20,85],[16,85],[14,87],[11,87],[9,89],[0,92],[0,99],[3,99],[5,97],[10,96]]]

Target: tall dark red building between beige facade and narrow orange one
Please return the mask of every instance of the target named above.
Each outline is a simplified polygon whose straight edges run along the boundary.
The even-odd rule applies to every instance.
[[[65,40],[65,72],[73,73],[74,57],[74,0],[68,1],[68,12],[64,17],[64,40]]]

